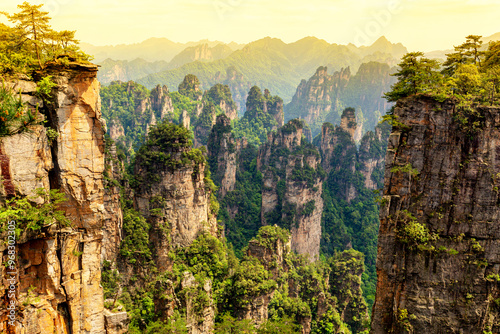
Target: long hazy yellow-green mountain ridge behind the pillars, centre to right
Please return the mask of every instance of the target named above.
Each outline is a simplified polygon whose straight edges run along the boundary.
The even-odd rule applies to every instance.
[[[301,79],[310,78],[318,66],[327,66],[331,71],[350,67],[355,73],[361,64],[369,61],[396,65],[406,52],[403,45],[392,44],[384,37],[369,47],[361,48],[352,44],[329,44],[315,37],[306,37],[290,44],[267,37],[246,45],[227,58],[188,63],[180,68],[148,75],[137,82],[148,88],[161,84],[175,90],[185,75],[194,74],[200,79],[202,89],[224,81],[240,106],[244,105],[246,96],[236,87],[245,87],[246,90],[253,85],[269,88],[288,102]],[[241,74],[238,80],[230,80],[226,74],[228,68],[235,70],[231,73]],[[239,95],[241,100],[237,97]]]

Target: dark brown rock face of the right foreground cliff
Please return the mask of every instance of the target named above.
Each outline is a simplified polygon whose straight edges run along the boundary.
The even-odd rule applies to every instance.
[[[371,333],[497,333],[500,109],[420,96],[394,115]]]

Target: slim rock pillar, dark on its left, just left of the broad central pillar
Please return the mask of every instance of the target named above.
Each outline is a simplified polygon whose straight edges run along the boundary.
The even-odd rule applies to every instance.
[[[207,147],[210,166],[215,167],[212,169],[212,177],[219,186],[219,199],[234,190],[241,146],[241,141],[236,140],[231,133],[230,119],[225,115],[217,116]]]

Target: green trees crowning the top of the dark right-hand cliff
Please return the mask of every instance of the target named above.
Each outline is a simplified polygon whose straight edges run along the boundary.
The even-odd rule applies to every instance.
[[[440,64],[424,58],[422,52],[408,53],[394,74],[398,82],[385,97],[388,101],[414,94],[428,94],[438,101],[455,98],[461,108],[461,122],[470,126],[472,104],[500,102],[500,44],[491,42],[486,51],[481,50],[481,36],[467,36],[463,44],[455,47],[455,52],[447,55],[441,71]]]

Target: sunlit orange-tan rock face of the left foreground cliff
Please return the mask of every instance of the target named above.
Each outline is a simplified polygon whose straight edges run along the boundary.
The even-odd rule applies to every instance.
[[[72,227],[21,235],[17,322],[15,328],[8,328],[2,307],[1,332],[105,333],[100,286],[104,127],[96,73],[93,65],[46,69],[43,75],[52,75],[58,85],[41,109],[58,133],[51,148],[43,126],[33,134],[2,140],[4,196],[31,195],[39,187],[60,189],[68,200],[61,209]],[[42,105],[36,101],[33,83],[17,84],[22,85],[23,99]],[[4,253],[6,246],[0,247]],[[0,269],[2,277],[5,269]],[[7,290],[2,291],[4,299]]]

